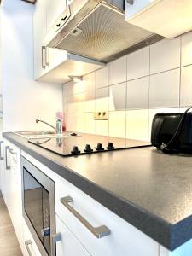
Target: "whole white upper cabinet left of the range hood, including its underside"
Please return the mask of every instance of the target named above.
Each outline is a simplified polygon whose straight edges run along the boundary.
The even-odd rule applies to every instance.
[[[34,31],[34,79],[51,83],[65,83],[70,76],[83,76],[103,67],[100,61],[93,61],[66,50],[46,47],[45,35],[55,20],[72,0],[38,0],[33,16]]]

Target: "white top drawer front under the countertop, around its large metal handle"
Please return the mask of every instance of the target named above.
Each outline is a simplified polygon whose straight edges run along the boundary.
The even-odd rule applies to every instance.
[[[105,225],[110,235],[96,238],[90,230],[61,203],[61,198],[70,196],[69,205],[93,227]],[[57,215],[67,224],[87,251],[94,256],[158,256],[158,243],[137,230],[124,219],[103,207],[83,191],[55,176],[55,207]],[[138,246],[139,245],[139,246]]]

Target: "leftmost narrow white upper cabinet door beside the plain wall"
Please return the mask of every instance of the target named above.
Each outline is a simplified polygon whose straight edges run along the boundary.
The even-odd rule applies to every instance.
[[[55,1],[53,1],[55,2]],[[43,45],[46,35],[46,1],[38,0],[33,15],[34,32],[34,78],[38,79],[45,72],[46,53]]]

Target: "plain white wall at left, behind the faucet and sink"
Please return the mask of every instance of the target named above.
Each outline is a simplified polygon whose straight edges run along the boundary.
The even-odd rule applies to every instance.
[[[3,131],[49,130],[35,119],[55,124],[55,112],[62,109],[61,84],[33,80],[33,10],[30,3],[3,1]]]

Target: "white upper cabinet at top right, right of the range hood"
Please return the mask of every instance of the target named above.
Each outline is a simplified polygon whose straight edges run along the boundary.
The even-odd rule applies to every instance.
[[[125,20],[163,37],[175,38],[192,30],[192,1],[125,0]]]

